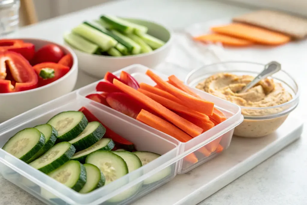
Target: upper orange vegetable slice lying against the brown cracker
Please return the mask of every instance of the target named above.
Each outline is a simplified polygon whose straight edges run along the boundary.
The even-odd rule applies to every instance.
[[[243,38],[265,45],[281,45],[291,40],[291,37],[284,34],[242,23],[216,26],[212,27],[211,30],[219,34]]]

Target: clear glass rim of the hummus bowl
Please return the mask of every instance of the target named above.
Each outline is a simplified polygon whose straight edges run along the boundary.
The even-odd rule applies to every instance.
[[[258,63],[258,62],[253,62],[253,61],[221,61],[221,62],[217,62],[217,63],[212,63],[212,64],[208,64],[208,65],[203,65],[201,66],[200,68],[196,68],[196,69],[193,69],[192,71],[190,71],[188,73],[188,75],[185,77],[185,85],[188,85],[188,79],[192,76],[192,74],[194,74],[195,72],[197,72],[198,70],[200,69],[204,69],[206,67],[209,67],[209,66],[214,66],[214,65],[221,65],[221,64],[227,64],[227,63],[246,63],[246,64],[254,64],[254,65],[261,65],[261,66],[264,66],[265,64],[263,63]],[[235,71],[240,71],[242,72],[242,70],[229,70],[227,72],[235,72]],[[280,70],[279,72],[283,72],[285,73],[296,85],[297,87],[297,92],[295,93],[295,95],[292,97],[292,99],[286,103],[283,103],[283,104],[279,104],[279,105],[274,105],[274,106],[270,106],[270,107],[245,107],[245,106],[240,106],[241,110],[242,109],[248,109],[248,110],[263,110],[263,109],[274,109],[274,108],[280,108],[280,107],[283,107],[283,106],[286,106],[286,105],[289,105],[291,103],[294,103],[292,106],[290,106],[290,108],[288,109],[285,109],[285,110],[282,110],[281,112],[277,112],[277,113],[274,113],[274,114],[271,114],[271,115],[264,115],[264,116],[244,116],[244,119],[257,119],[257,120],[260,120],[260,119],[270,119],[270,118],[275,118],[275,117],[279,117],[279,116],[283,116],[283,115],[286,115],[286,114],[289,114],[292,110],[294,110],[297,105],[298,105],[298,99],[299,99],[299,96],[300,96],[300,93],[301,93],[301,87],[300,85],[298,84],[298,82],[289,74],[287,73],[285,70]],[[223,73],[221,71],[216,71],[216,72],[208,72],[208,74],[214,74],[214,73]],[[273,77],[274,78],[274,77]],[[275,79],[278,79],[278,78],[275,78]],[[288,85],[289,86],[289,85]],[[290,87],[290,86],[289,86]],[[292,88],[291,88],[292,89]],[[204,91],[203,91],[204,92]]]

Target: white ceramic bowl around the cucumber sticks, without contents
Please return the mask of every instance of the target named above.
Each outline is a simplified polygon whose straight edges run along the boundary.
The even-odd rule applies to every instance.
[[[150,53],[123,57],[89,54],[72,48],[78,57],[80,69],[91,76],[103,78],[107,71],[114,72],[128,65],[141,64],[154,68],[164,61],[171,49],[172,31],[150,21],[131,18],[129,18],[129,21],[148,27],[148,34],[165,41],[165,45]]]

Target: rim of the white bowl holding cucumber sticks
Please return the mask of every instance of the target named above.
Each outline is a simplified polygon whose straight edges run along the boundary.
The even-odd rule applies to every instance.
[[[154,22],[154,21],[151,21],[151,20],[146,20],[146,19],[140,19],[140,18],[128,18],[128,17],[122,17],[122,18],[125,18],[125,19],[131,19],[131,20],[138,20],[138,21],[143,21],[143,22],[150,22],[150,23],[153,23],[153,24],[156,24],[158,26],[161,26],[163,27],[168,33],[169,33],[169,40],[165,42],[164,45],[162,45],[160,48],[158,49],[155,49],[153,50],[152,52],[150,53],[139,53],[139,54],[136,54],[136,55],[127,55],[127,56],[103,56],[103,55],[97,55],[97,54],[93,54],[93,53],[86,53],[86,52],[83,52],[83,51],[80,51],[76,48],[73,48],[71,47],[68,43],[66,43],[64,41],[64,44],[71,48],[73,51],[75,52],[80,52],[80,53],[83,53],[85,55],[89,55],[89,56],[94,56],[94,57],[99,57],[99,58],[109,58],[109,59],[116,59],[116,60],[119,60],[119,59],[131,59],[131,58],[135,58],[135,57],[144,57],[144,56],[149,56],[149,55],[152,55],[152,54],[155,54],[157,52],[159,52],[160,50],[162,49],[165,49],[167,46],[169,46],[172,41],[173,41],[173,30],[170,29],[169,27],[161,24],[161,23],[157,23],[157,22]],[[71,31],[68,31],[68,32],[71,32]]]

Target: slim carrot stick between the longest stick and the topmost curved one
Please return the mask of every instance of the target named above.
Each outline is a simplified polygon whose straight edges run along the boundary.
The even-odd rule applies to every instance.
[[[209,121],[208,115],[205,115],[203,113],[197,112],[195,110],[192,110],[191,108],[185,107],[177,102],[171,101],[165,97],[161,97],[159,95],[156,95],[154,93],[150,93],[147,90],[138,89],[139,92],[143,93],[144,95],[150,97],[154,101],[160,103],[161,105],[165,106],[166,108],[169,108],[171,110],[175,110],[180,113],[185,113],[186,115],[195,117],[200,120]]]

